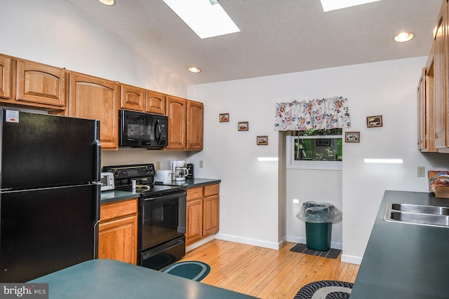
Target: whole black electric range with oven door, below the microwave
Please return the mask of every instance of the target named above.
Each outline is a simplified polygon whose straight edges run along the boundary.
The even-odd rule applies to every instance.
[[[185,256],[185,187],[155,185],[153,164],[105,166],[103,171],[114,174],[116,190],[140,192],[138,265],[159,270]]]

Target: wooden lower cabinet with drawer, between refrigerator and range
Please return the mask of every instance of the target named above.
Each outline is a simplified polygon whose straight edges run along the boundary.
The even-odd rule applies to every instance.
[[[102,204],[98,228],[98,258],[137,265],[138,199]]]

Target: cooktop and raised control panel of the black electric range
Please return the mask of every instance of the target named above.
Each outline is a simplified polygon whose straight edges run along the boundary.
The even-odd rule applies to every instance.
[[[185,190],[184,186],[154,184],[154,164],[105,166],[103,170],[114,174],[116,190],[133,192],[132,181],[135,180],[135,192],[139,192],[140,197],[154,197]]]

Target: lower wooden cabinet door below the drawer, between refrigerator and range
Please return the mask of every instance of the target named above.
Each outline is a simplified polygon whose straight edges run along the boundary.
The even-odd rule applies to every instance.
[[[100,223],[98,258],[110,258],[137,264],[138,216],[128,216]]]

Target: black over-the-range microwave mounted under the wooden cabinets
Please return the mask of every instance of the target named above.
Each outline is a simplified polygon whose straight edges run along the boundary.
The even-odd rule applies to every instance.
[[[119,110],[119,146],[163,148],[167,145],[167,116]]]

